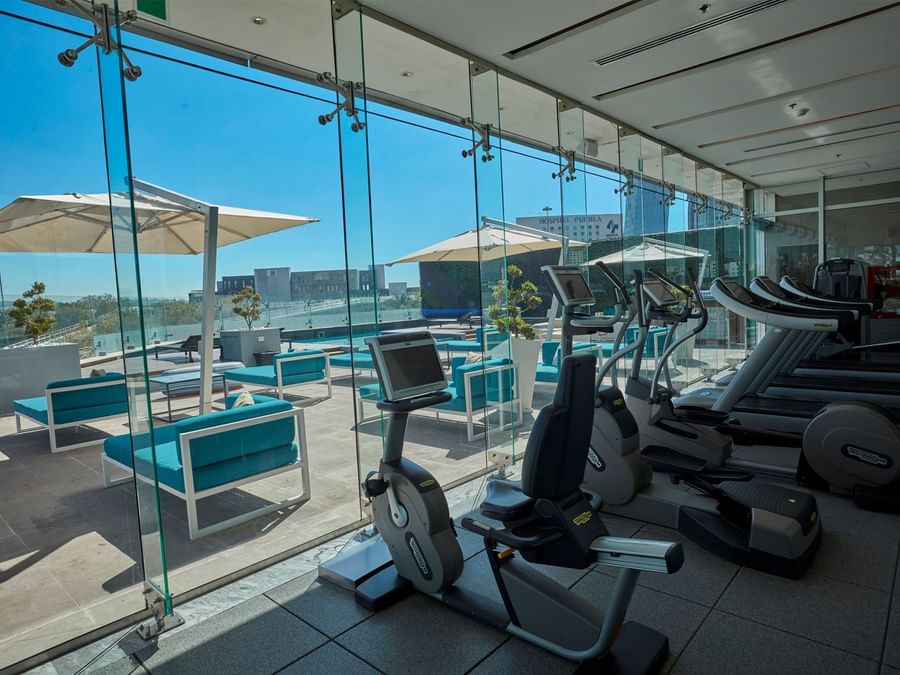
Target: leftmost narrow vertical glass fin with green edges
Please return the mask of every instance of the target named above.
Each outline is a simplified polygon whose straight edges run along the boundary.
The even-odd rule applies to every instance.
[[[117,3],[118,4],[118,3]],[[107,5],[102,6],[104,11]],[[112,20],[112,17],[110,17]],[[116,10],[113,39],[121,44]],[[98,49],[100,90],[103,106],[103,130],[106,142],[106,167],[109,177],[112,244],[115,250],[116,283],[119,291],[119,317],[122,344],[131,331],[137,336],[138,353],[122,362],[128,392],[128,418],[131,432],[131,461],[135,467],[141,559],[144,579],[156,597],[162,600],[166,614],[172,612],[166,569],[166,547],[157,477],[157,442],[150,406],[150,373],[143,323],[141,271],[138,260],[137,217],[131,185],[131,155],[125,120],[125,64],[120,50]],[[146,461],[137,462],[137,457]],[[150,598],[155,602],[153,596]]]

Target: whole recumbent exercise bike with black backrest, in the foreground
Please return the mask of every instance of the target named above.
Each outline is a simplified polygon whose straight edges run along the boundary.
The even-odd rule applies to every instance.
[[[684,554],[680,544],[607,536],[579,487],[590,438],[585,413],[593,355],[563,361],[556,398],[532,429],[521,483],[488,483],[482,514],[503,527],[463,520],[464,528],[484,539],[500,604],[456,584],[464,558],[444,492],[431,474],[403,457],[409,413],[448,398],[434,338],[414,333],[366,342],[384,395],[378,407],[387,414],[387,435],[378,471],[369,474],[363,489],[390,560],[356,573],[357,600],[379,608],[385,596],[396,599],[404,586],[413,587],[563,658],[603,659],[610,672],[657,670],[668,652],[665,636],[623,621],[640,571],[674,573]],[[339,569],[372,559],[371,550],[351,552],[323,576],[341,583],[335,579]],[[621,571],[606,611],[600,612],[525,561],[577,569],[599,563]]]

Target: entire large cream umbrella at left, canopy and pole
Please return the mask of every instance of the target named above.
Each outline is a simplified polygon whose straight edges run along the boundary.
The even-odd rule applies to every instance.
[[[209,204],[137,178],[131,184],[139,253],[203,254],[203,344],[212,344],[216,250],[318,220]],[[0,253],[113,253],[113,227],[131,230],[130,205],[120,193],[19,197],[0,209]],[[204,413],[212,397],[212,349],[201,352],[200,371]]]

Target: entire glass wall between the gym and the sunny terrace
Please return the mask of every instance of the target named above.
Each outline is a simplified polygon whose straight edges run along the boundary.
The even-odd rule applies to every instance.
[[[0,574],[15,609],[0,668],[366,523],[359,483],[383,435],[367,336],[439,342],[455,402],[414,416],[407,452],[453,486],[520,458],[554,393],[542,265],[603,258],[626,280],[652,268],[704,287],[742,269],[733,179],[357,11],[307,11],[323,54],[220,58],[126,26],[130,61],[92,46],[69,68],[55,57],[89,21],[0,13],[17,101],[0,110],[17,158],[0,181],[14,204],[0,210]],[[42,225],[50,211],[85,236]],[[722,367],[735,335],[679,354],[679,384]],[[652,367],[662,338],[648,344]],[[27,382],[26,355],[45,366]],[[104,377],[119,383],[108,415],[56,440],[40,413],[17,428],[13,400],[46,407],[49,382]],[[239,399],[289,420],[290,460],[189,487],[204,455],[181,434],[252,420]]]

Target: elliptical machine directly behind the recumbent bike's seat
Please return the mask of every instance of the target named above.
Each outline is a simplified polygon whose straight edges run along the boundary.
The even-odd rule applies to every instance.
[[[563,356],[571,349],[571,334],[605,329],[611,319],[624,319],[615,351],[600,369],[594,392],[591,449],[584,485],[603,499],[603,510],[615,515],[677,529],[711,553],[739,565],[798,578],[812,562],[822,526],[816,500],[799,490],[752,481],[745,471],[711,466],[669,448],[641,448],[640,429],[615,385],[603,380],[628,354],[639,361],[644,332],[619,348],[640,302],[604,265],[598,268],[612,283],[619,300],[613,317],[592,317],[577,311],[593,304],[594,296],[576,266],[543,267],[550,287],[563,307]],[[624,308],[624,311],[622,311]],[[637,364],[640,367],[640,363]],[[668,473],[670,482],[653,481],[653,469]],[[679,483],[691,488],[687,491]]]

